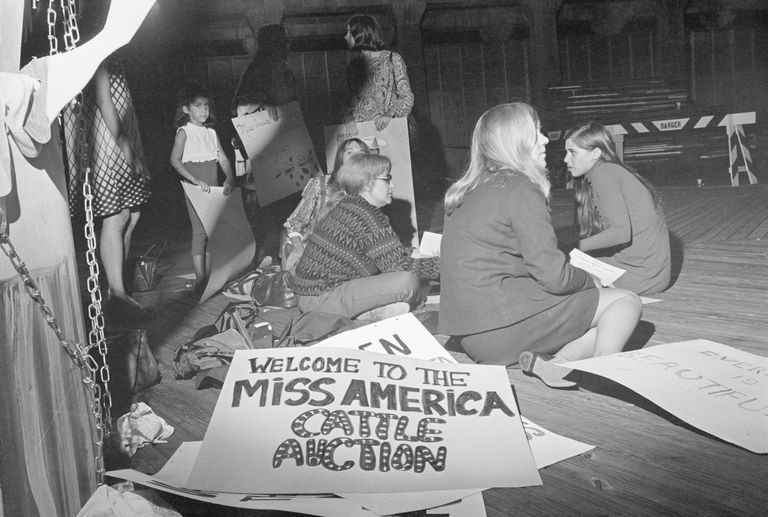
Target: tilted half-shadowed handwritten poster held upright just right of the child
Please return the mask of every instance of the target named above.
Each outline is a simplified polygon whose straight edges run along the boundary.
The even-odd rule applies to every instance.
[[[269,112],[257,111],[232,119],[251,162],[246,188],[256,192],[261,206],[300,192],[322,173],[299,104],[278,106],[277,115],[273,120]]]

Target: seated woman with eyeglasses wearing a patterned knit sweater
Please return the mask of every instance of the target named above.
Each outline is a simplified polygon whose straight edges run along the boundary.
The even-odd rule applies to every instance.
[[[296,266],[302,312],[404,314],[420,301],[420,279],[439,277],[439,257],[412,258],[381,211],[392,202],[391,168],[385,156],[358,154],[339,169]]]

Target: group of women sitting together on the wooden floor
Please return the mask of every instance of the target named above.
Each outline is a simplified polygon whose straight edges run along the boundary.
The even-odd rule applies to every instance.
[[[294,272],[301,310],[398,314],[420,302],[421,279],[440,277],[439,331],[473,360],[519,362],[548,386],[575,386],[559,364],[620,352],[642,313],[638,294],[669,284],[669,235],[653,188],[619,161],[605,127],[570,131],[565,162],[582,181],[577,246],[626,270],[601,288],[558,248],[547,143],[527,104],[484,113],[469,165],[445,196],[440,257],[418,259],[380,210],[392,201],[389,159],[360,141],[342,145],[338,170],[305,190],[317,215],[286,223],[289,251],[303,251]]]

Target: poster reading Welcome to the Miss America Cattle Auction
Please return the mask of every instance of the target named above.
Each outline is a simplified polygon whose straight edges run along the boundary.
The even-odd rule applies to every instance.
[[[539,484],[504,368],[311,347],[235,353],[187,488]]]

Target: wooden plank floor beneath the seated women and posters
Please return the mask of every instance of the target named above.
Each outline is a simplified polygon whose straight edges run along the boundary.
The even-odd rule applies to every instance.
[[[656,296],[661,302],[645,307],[629,347],[706,338],[768,356],[768,187],[665,188],[661,193],[672,234],[674,284]],[[422,229],[441,231],[439,203],[421,206],[419,215]],[[558,235],[570,238],[570,192],[555,192],[552,216]],[[140,237],[152,239],[151,232]],[[197,305],[185,291],[175,275],[191,271],[187,246],[172,243],[173,270],[157,290],[137,296],[157,312],[148,329],[164,374],[163,382],[142,397],[176,428],[169,443],[145,447],[130,461],[148,473],[157,471],[181,442],[202,439],[218,396],[218,390],[197,391],[192,381],[174,380],[170,366],[175,348],[212,323],[229,301],[219,295]],[[280,328],[292,314],[270,310],[264,316]],[[110,326],[126,324],[119,316],[111,318]],[[469,362],[464,354],[453,354]],[[563,392],[516,369],[509,370],[509,377],[526,417],[596,448],[543,469],[541,487],[487,490],[489,516],[768,511],[765,456],[693,429],[605,380],[586,378],[584,389]],[[117,413],[122,408],[116,405]],[[120,468],[127,460],[108,461],[108,468]],[[187,505],[184,511],[235,515],[202,504]]]

